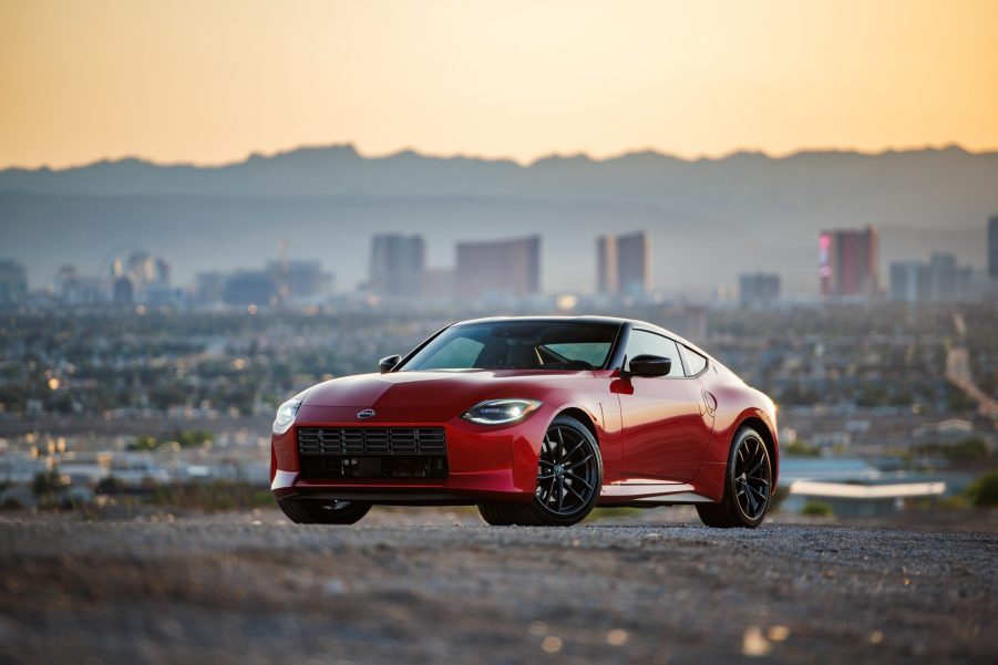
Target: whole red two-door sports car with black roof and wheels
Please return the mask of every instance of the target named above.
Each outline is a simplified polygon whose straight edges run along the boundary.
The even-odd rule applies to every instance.
[[[270,489],[291,520],[477,505],[490,524],[569,526],[596,506],[693,503],[709,527],[758,527],[769,508],[775,405],[656,325],[466,321],[380,370],[278,409]]]

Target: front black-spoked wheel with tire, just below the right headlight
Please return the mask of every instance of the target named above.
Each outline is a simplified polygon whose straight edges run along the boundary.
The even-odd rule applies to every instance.
[[[479,511],[494,526],[568,527],[596,506],[603,487],[603,457],[596,437],[569,416],[557,416],[541,444],[537,488],[529,503],[482,503]]]

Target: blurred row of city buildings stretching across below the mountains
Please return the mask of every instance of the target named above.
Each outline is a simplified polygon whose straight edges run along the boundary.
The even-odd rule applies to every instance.
[[[994,240],[996,218],[988,220]],[[933,251],[928,261],[891,261],[882,267],[878,233],[873,226],[861,229],[823,230],[817,236],[816,279],[821,299],[841,302],[970,302],[998,293],[998,282],[987,270],[976,272],[958,264],[948,252]],[[277,243],[279,259],[267,260],[263,269],[238,267],[229,272],[200,270],[183,285],[171,284],[172,267],[163,257],[144,249],[109,254],[104,273],[80,272],[75,264],[63,266],[50,293],[65,304],[138,305],[238,305],[313,306],[336,294],[375,297],[424,302],[515,302],[534,295],[595,295],[621,302],[690,300],[678,291],[652,290],[649,274],[649,241],[645,230],[595,238],[594,289],[546,290],[542,288],[541,235],[494,240],[462,240],[452,243],[454,262],[431,266],[426,261],[425,238],[420,233],[372,233],[369,279],[336,292],[336,276],[325,272],[321,259],[289,258],[286,240]],[[888,279],[881,282],[878,274]],[[748,306],[770,306],[784,300],[780,272],[754,271],[738,276],[738,291],[718,285],[707,300],[737,300]],[[0,257],[0,305],[27,302],[30,284],[24,266]],[[34,293],[44,291],[45,287]],[[512,299],[512,300],[511,300]],[[704,299],[691,299],[703,301]],[[790,301],[799,299],[791,298]],[[377,303],[377,300],[371,301]],[[560,306],[560,305],[559,305]],[[572,305],[574,306],[574,305]],[[570,309],[570,308],[569,308]]]

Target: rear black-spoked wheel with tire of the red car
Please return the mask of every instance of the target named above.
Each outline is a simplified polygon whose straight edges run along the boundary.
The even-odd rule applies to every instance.
[[[720,503],[697,503],[700,521],[717,529],[754,529],[765,519],[773,493],[773,463],[758,432],[743,427],[734,435],[724,471]]]

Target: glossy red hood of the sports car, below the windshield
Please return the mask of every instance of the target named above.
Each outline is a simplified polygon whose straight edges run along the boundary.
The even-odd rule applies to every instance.
[[[591,372],[538,372],[528,370],[466,370],[460,372],[391,372],[361,374],[320,383],[307,392],[302,415],[356,418],[372,408],[390,419],[447,419],[494,396],[517,397],[522,388],[531,397],[538,384],[593,376]],[[532,389],[533,388],[533,389]],[[340,413],[342,409],[342,413]],[[381,419],[381,418],[377,418]]]

